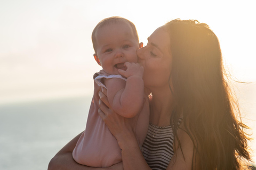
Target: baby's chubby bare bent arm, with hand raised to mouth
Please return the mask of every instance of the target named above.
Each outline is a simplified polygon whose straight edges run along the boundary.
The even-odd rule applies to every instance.
[[[122,79],[108,79],[105,81],[108,99],[116,113],[124,117],[134,117],[143,106],[144,82],[143,67],[138,63],[126,62],[127,70],[118,70],[127,78],[125,83]]]

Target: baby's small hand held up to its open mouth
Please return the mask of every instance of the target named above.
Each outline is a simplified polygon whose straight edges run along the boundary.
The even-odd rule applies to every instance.
[[[144,68],[140,66],[139,63],[130,63],[130,62],[125,62],[124,66],[127,67],[126,71],[119,69],[119,73],[123,75],[126,78],[129,78],[131,76],[137,76],[142,78],[143,77],[143,71]]]

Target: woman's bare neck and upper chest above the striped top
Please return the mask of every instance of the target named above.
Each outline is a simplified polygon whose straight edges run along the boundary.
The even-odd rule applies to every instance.
[[[150,100],[150,122],[157,126],[170,125],[173,111],[173,97],[171,91],[153,91]]]

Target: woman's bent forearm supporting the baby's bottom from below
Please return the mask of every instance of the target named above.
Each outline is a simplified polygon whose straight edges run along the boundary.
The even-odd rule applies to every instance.
[[[108,168],[94,168],[75,162],[72,156],[72,152],[76,146],[76,143],[82,133],[78,134],[73,140],[71,140],[65,147],[63,147],[50,161],[48,170],[96,170],[96,169],[123,169],[122,163],[113,165]]]

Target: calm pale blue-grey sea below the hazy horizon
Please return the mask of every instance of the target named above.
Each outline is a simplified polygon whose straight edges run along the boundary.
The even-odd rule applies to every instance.
[[[248,132],[255,138],[256,83],[243,84],[237,96],[243,120],[251,128]],[[51,158],[85,129],[91,98],[0,105],[0,169],[47,169]],[[255,140],[249,146],[255,150]]]

